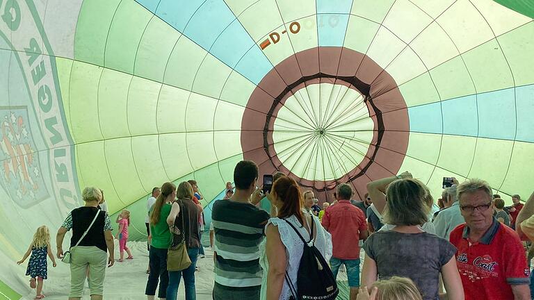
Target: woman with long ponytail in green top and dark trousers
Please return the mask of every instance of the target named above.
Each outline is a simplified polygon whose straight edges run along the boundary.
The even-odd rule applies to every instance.
[[[173,183],[163,183],[161,194],[156,199],[156,203],[150,210],[150,242],[149,267],[147,288],[145,294],[148,300],[153,300],[156,288],[159,290],[159,299],[167,298],[167,286],[169,284],[169,274],[167,272],[167,250],[170,246],[171,234],[167,224],[167,217],[170,214],[171,204],[176,199],[176,185]]]

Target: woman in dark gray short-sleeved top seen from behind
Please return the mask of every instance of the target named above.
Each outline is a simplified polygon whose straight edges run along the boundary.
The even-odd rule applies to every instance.
[[[366,253],[362,286],[370,287],[377,278],[401,276],[412,279],[425,300],[438,300],[439,273],[442,273],[448,299],[462,300],[464,292],[455,261],[455,247],[443,238],[426,233],[430,195],[416,179],[399,179],[389,184],[384,219],[395,225],[378,231],[364,243]]]

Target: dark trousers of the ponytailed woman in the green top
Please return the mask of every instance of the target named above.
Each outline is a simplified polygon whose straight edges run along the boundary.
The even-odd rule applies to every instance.
[[[167,298],[167,287],[169,285],[169,273],[167,272],[167,249],[150,247],[149,253],[150,274],[148,275],[147,288],[145,294],[154,296],[156,288],[159,290],[158,298]]]

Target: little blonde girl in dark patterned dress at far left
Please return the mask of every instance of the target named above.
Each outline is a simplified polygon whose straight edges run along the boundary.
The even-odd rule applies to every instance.
[[[47,255],[54,263],[56,267],[56,258],[52,254],[50,247],[50,232],[47,226],[40,226],[37,228],[37,232],[33,235],[33,240],[31,241],[28,251],[24,253],[22,260],[17,261],[17,264],[20,265],[24,263],[24,260],[30,255],[30,260],[28,263],[28,269],[26,269],[26,276],[31,276],[30,279],[30,288],[37,287],[37,292],[35,299],[44,298],[42,292],[42,281],[47,279]],[[37,284],[35,284],[37,281]]]

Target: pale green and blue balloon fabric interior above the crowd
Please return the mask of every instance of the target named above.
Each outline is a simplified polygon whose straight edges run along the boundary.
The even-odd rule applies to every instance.
[[[528,1],[4,0],[0,16],[9,261],[86,186],[143,238],[152,188],[195,179],[211,208],[243,159],[321,201],[404,171],[435,198],[444,176],[531,192]]]

